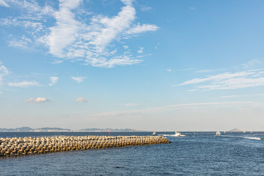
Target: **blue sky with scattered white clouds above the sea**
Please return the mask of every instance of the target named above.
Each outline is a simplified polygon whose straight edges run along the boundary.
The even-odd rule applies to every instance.
[[[263,0],[0,0],[0,128],[264,130]]]

